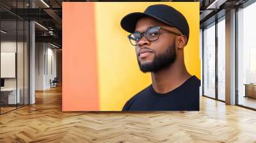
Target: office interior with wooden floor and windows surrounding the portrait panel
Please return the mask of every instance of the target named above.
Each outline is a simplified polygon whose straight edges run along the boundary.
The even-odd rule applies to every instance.
[[[255,0],[154,1],[200,4],[199,111],[64,112],[63,3],[108,2],[0,1],[0,142],[256,142]]]

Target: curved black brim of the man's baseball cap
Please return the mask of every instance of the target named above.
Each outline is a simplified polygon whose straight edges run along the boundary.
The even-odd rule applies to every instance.
[[[149,15],[147,13],[141,13],[141,12],[135,12],[135,13],[130,13],[130,14],[126,15],[121,20],[121,22],[120,22],[121,27],[129,33],[134,33],[134,29],[136,27],[138,20],[140,20],[143,17],[151,17],[153,19],[159,20],[160,22],[163,22],[164,24],[167,24],[168,26],[172,26],[169,22],[159,19],[158,17],[155,17],[154,15]]]

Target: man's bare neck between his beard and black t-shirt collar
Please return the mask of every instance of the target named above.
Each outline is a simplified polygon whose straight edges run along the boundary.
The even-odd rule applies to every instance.
[[[168,93],[190,77],[184,61],[175,61],[168,68],[151,73],[152,86],[157,93]]]

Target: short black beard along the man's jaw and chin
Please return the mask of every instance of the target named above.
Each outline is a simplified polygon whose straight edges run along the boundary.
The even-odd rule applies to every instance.
[[[152,62],[141,64],[138,57],[137,60],[141,72],[158,72],[174,63],[176,56],[175,43],[173,42],[163,53],[156,55]]]

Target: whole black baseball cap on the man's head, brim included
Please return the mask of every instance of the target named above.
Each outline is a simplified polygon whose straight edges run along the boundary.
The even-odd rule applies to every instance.
[[[151,17],[152,19],[156,19],[160,22],[163,22],[168,26],[176,27],[182,34],[186,35],[187,38],[189,38],[188,21],[186,20],[184,15],[182,15],[182,13],[175,10],[171,6],[165,4],[154,4],[148,6],[148,8],[143,13],[130,13],[126,15],[120,23],[125,31],[129,33],[134,33],[134,29],[136,27],[138,20],[140,20],[143,17]]]

